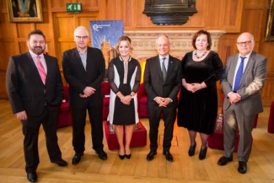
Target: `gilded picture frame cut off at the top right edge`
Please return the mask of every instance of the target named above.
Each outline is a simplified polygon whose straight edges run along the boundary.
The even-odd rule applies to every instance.
[[[269,14],[267,18],[265,41],[274,41],[273,19],[274,19],[274,0],[271,0],[270,6],[269,6]]]

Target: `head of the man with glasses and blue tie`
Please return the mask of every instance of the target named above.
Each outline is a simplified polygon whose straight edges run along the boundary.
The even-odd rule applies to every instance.
[[[254,48],[254,36],[249,32],[244,32],[238,36],[237,48],[241,56],[251,53]]]

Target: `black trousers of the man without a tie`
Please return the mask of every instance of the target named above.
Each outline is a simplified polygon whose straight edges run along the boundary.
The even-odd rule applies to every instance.
[[[87,110],[89,112],[89,121],[91,122],[91,138],[93,149],[100,151],[103,149],[103,118],[102,118],[102,105],[94,105],[89,101],[87,108],[71,109],[73,119],[73,139],[72,144],[76,153],[84,152],[84,126],[86,125]]]

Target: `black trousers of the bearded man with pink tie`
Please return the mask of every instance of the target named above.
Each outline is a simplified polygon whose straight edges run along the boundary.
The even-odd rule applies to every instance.
[[[61,159],[61,151],[57,138],[58,109],[49,111],[45,107],[41,116],[27,116],[27,120],[21,120],[24,135],[25,171],[36,171],[39,164],[38,134],[41,124],[45,131],[45,140],[49,159],[54,162]]]

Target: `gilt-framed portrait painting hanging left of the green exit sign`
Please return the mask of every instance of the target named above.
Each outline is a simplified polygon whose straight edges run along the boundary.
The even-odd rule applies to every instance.
[[[41,0],[6,0],[10,21],[43,21]]]

